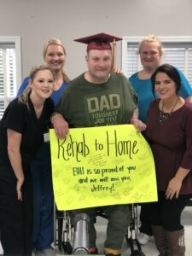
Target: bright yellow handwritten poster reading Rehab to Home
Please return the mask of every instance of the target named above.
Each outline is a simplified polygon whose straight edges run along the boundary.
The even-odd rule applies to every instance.
[[[154,158],[133,125],[51,129],[55,202],[59,210],[157,201]]]

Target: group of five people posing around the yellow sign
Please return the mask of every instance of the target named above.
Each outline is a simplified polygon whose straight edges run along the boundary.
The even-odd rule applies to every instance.
[[[192,196],[192,89],[183,73],[161,65],[162,45],[154,36],[139,45],[143,70],[130,79],[113,73],[110,42],[115,37],[97,34],[77,41],[87,44],[88,71],[69,81],[63,67],[66,51],[50,39],[44,47],[46,66],[32,68],[18,97],[0,121],[0,234],[4,255],[55,255],[54,196],[48,131],[59,138],[70,127],[96,126],[88,106],[118,95],[115,121],[102,125],[133,124],[154,154],[158,201],[141,207],[141,234],[154,235],[161,256],[183,256],[181,213]],[[74,104],[75,102],[75,104]],[[97,109],[110,112],[109,108]],[[64,172],[64,171],[63,171]],[[104,253],[120,255],[129,225],[128,205],[103,206],[108,216]],[[33,212],[33,214],[32,214]],[[90,216],[90,254],[98,253],[94,219],[96,208],[69,211]]]

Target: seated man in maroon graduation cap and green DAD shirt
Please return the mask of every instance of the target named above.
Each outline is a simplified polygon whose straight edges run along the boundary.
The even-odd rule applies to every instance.
[[[133,124],[137,131],[146,126],[137,119],[137,95],[130,82],[122,74],[113,73],[113,53],[110,42],[121,40],[104,33],[76,41],[87,46],[85,57],[88,71],[69,82],[55,113],[52,124],[56,136],[63,139],[68,127],[93,127]],[[93,114],[94,113],[94,114]],[[113,118],[109,118],[112,117]],[[102,117],[102,118],[101,118]],[[129,224],[128,205],[103,206],[108,216],[106,255],[120,255]],[[96,229],[94,220],[98,207],[69,211],[73,220],[79,212],[90,217],[90,254],[96,254]]]

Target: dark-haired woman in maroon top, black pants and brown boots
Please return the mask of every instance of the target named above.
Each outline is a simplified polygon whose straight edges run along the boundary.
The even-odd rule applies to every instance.
[[[145,132],[154,154],[159,198],[148,204],[150,223],[160,254],[184,255],[181,213],[192,195],[192,104],[179,96],[182,85],[175,67],[158,67],[151,81],[160,98],[150,103]]]

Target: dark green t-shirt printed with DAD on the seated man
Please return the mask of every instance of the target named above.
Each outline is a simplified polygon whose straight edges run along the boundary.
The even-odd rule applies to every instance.
[[[70,127],[129,124],[137,94],[124,75],[112,73],[108,82],[91,84],[84,73],[69,82],[56,111]]]

